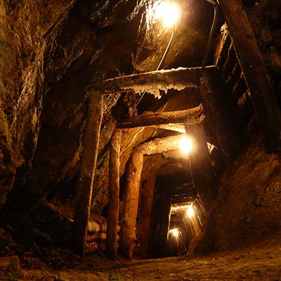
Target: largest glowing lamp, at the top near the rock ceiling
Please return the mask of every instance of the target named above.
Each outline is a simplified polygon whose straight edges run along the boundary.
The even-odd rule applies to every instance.
[[[180,6],[174,2],[163,1],[157,6],[155,11],[155,18],[162,20],[165,27],[172,27],[180,16]]]

